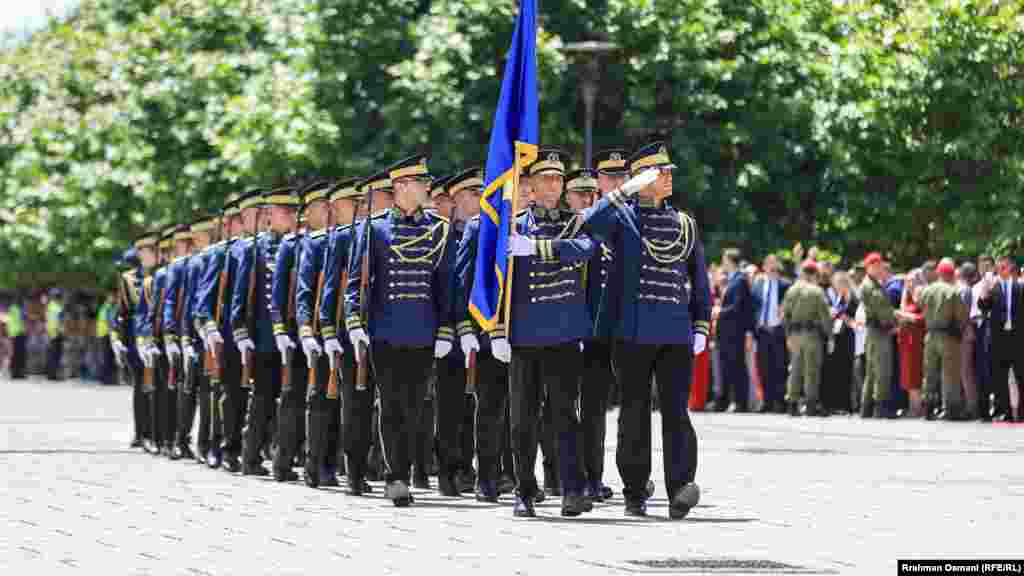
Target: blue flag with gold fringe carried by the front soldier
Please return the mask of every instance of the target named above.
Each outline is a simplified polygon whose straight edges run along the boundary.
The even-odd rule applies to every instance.
[[[469,313],[484,330],[495,328],[502,310],[519,170],[537,159],[537,2],[522,0],[490,128],[480,198],[480,236]]]

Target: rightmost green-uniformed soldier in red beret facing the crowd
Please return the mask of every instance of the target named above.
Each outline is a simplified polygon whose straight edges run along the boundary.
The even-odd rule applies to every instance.
[[[967,308],[955,285],[956,265],[943,258],[936,268],[938,281],[926,286],[918,300],[925,308],[928,333],[925,335],[925,405],[926,417],[932,419],[939,406],[939,385],[942,386],[940,419],[962,419],[961,402],[961,338],[967,322]]]

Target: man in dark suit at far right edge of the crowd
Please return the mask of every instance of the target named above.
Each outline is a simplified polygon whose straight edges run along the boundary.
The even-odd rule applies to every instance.
[[[991,290],[983,296],[978,305],[989,312],[989,327],[992,334],[992,378],[988,386],[978,389],[978,411],[982,419],[991,414],[993,420],[1012,421],[1010,410],[1010,369],[1017,379],[1018,392],[1024,392],[1024,364],[1020,360],[1021,345],[1024,344],[1024,284],[1016,278],[1015,266],[1010,258],[998,261],[999,278]],[[988,395],[995,395],[995,402],[989,408]]]

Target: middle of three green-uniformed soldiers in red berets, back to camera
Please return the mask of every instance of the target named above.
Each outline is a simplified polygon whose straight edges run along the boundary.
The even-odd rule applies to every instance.
[[[862,418],[890,416],[883,403],[889,400],[889,383],[892,380],[892,333],[896,327],[896,314],[882,285],[884,266],[882,254],[878,252],[864,258],[867,275],[860,284],[860,298],[867,333],[864,339],[864,388],[860,399]]]

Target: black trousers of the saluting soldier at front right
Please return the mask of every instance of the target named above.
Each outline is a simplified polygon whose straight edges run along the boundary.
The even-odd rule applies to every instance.
[[[613,359],[623,390],[615,451],[623,495],[627,499],[646,498],[651,468],[650,378],[653,375],[662,413],[665,485],[671,498],[696,476],[697,437],[687,411],[692,351],[686,344],[638,345],[620,341],[615,343]]]

